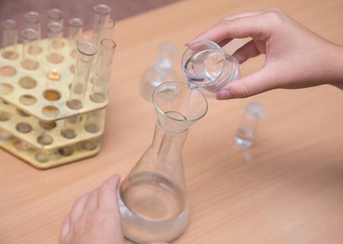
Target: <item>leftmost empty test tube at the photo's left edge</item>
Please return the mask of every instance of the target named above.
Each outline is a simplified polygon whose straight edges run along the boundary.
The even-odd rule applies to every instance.
[[[3,20],[3,22],[1,22],[1,32],[3,45],[1,55],[5,59],[17,59],[17,22],[14,20]]]

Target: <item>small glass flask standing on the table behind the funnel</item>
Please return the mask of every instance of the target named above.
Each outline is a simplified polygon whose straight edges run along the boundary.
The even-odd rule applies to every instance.
[[[163,82],[175,82],[179,79],[174,70],[178,49],[172,43],[162,43],[158,46],[159,56],[155,65],[144,70],[139,83],[142,96],[151,100],[153,90]]]

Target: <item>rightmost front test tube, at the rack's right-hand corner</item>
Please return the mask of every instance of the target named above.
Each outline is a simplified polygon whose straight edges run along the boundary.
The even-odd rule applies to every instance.
[[[91,100],[93,102],[103,102],[108,98],[109,80],[115,49],[116,43],[114,40],[101,40],[91,77],[91,82],[93,83]]]

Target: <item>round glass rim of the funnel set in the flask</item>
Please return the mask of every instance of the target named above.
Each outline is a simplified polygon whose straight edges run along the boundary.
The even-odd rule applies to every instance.
[[[176,119],[176,118],[173,118],[171,116],[168,116],[165,112],[162,111],[162,109],[160,109],[160,107],[158,106],[157,102],[155,101],[155,92],[162,86],[166,86],[168,84],[182,84],[183,86],[188,86],[187,83],[185,82],[163,82],[162,84],[156,86],[156,88],[153,90],[153,95],[152,95],[152,101],[153,101],[153,106],[155,107],[155,109],[160,113],[162,114],[162,116],[164,116],[165,118],[167,119],[172,119],[173,121],[177,121],[177,122],[183,122],[183,123],[194,123],[196,121],[199,121],[199,119],[203,118],[206,114],[207,114],[207,111],[208,111],[208,102],[206,100],[206,97],[204,96],[203,93],[201,93],[201,91],[199,91],[198,89],[193,89],[192,92],[198,92],[201,94],[202,98],[204,98],[204,101],[205,101],[205,105],[206,105],[206,109],[204,111],[204,113],[202,113],[200,116],[198,116],[197,118],[195,119],[188,119],[186,118],[186,120],[182,120],[182,119]],[[189,86],[188,86],[189,87]]]

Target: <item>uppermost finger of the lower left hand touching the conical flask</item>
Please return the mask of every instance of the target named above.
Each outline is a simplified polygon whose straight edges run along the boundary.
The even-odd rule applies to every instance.
[[[119,180],[119,175],[115,174],[102,183],[98,191],[99,208],[118,208],[116,190],[118,188]]]

